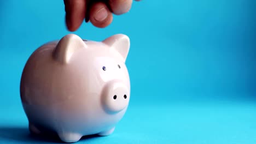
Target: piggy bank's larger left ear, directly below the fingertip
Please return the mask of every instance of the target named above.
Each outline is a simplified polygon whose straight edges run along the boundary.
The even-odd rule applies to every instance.
[[[86,49],[87,45],[75,34],[68,34],[57,44],[53,57],[60,63],[68,63],[73,53],[79,49]]]

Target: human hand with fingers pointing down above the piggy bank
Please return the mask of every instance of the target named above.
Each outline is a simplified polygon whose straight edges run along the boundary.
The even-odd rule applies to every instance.
[[[140,1],[140,0],[136,0]],[[76,31],[83,23],[104,28],[110,25],[113,15],[127,13],[132,0],[64,0],[66,26],[69,31]]]

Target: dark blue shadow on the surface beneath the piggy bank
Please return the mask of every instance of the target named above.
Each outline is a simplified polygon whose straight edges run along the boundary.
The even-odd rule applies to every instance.
[[[98,135],[83,136],[79,141],[95,140]],[[65,143],[56,134],[33,135],[27,127],[0,127],[0,139],[17,143]]]

